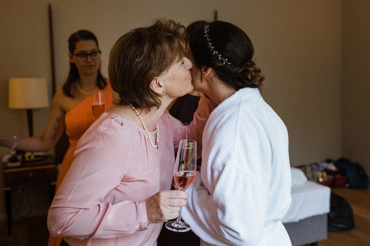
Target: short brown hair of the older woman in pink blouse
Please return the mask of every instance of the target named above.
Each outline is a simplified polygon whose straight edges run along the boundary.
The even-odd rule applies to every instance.
[[[158,19],[124,34],[113,45],[108,64],[112,89],[121,97],[116,104],[131,103],[139,110],[159,108],[160,95],[149,85],[182,59],[185,50],[185,27],[173,20]]]

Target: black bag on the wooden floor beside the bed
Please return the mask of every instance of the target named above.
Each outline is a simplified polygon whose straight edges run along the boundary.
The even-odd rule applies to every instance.
[[[330,194],[330,212],[327,215],[327,231],[348,231],[354,228],[351,205],[340,195]]]

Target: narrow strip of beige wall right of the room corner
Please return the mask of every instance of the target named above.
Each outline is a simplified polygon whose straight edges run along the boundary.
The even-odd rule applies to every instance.
[[[370,1],[343,1],[342,155],[370,174]]]

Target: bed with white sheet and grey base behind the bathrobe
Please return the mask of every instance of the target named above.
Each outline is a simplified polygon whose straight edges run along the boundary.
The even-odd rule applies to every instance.
[[[282,219],[292,246],[311,244],[327,238],[330,188],[308,181],[301,169],[292,167],[292,204]]]

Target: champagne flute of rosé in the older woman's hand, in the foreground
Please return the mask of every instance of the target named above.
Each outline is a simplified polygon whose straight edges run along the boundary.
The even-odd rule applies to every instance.
[[[178,190],[185,191],[195,178],[196,141],[181,139],[176,156],[174,180]],[[181,221],[181,207],[176,221],[166,223],[166,228],[174,232],[187,232],[190,226]]]

